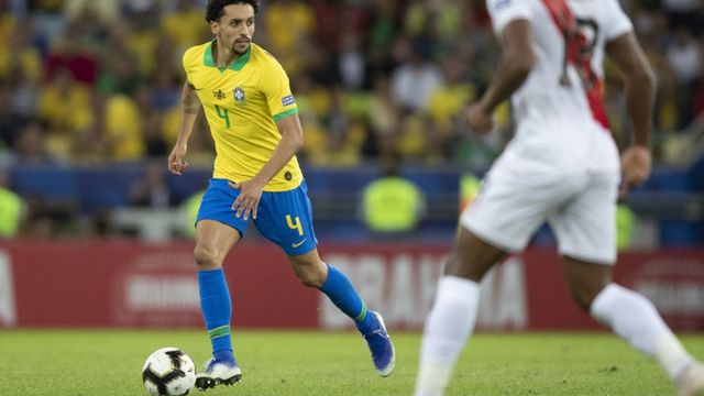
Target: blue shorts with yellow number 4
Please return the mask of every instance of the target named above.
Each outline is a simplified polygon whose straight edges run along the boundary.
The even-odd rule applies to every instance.
[[[239,189],[228,186],[227,179],[211,178],[202,197],[196,223],[215,220],[244,234],[250,221],[264,238],[279,245],[286,254],[299,255],[316,249],[318,240],[312,229],[312,209],[308,199],[306,180],[293,190],[262,193],[256,219],[235,217],[232,210]]]

